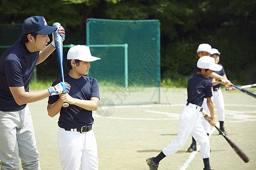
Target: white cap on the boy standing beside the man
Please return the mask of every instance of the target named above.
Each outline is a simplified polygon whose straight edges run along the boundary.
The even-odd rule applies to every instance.
[[[81,61],[92,62],[101,58],[93,57],[92,54],[90,54],[89,46],[76,45],[68,50],[67,59],[79,59]]]

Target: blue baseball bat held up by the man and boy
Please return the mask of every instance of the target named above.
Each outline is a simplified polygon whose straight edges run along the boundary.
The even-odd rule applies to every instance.
[[[53,27],[61,27],[60,23],[53,23],[52,25]],[[57,53],[57,59],[59,62],[59,66],[60,66],[60,75],[62,78],[62,81],[64,81],[64,70],[63,70],[63,44],[62,44],[62,37],[59,35],[59,33],[57,32],[57,30],[55,32],[53,32],[53,36],[54,36],[54,42],[55,42],[55,47],[56,47],[56,53]],[[68,103],[63,103],[62,105],[64,108],[67,108],[69,106]]]

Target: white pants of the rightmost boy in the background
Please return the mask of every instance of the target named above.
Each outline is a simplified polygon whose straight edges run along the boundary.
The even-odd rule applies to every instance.
[[[218,110],[218,121],[225,121],[224,97],[221,89],[218,91],[213,91],[213,102]]]

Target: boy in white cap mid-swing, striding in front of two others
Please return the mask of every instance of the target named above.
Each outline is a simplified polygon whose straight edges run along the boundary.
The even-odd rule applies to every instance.
[[[187,104],[184,106],[180,114],[179,129],[174,142],[170,143],[165,147],[162,152],[155,158],[148,158],[147,164],[150,170],[158,169],[160,160],[168,155],[172,155],[181,147],[184,146],[189,135],[192,134],[196,141],[199,142],[201,147],[200,154],[204,161],[204,170],[211,170],[209,163],[210,157],[210,142],[209,137],[201,124],[201,117],[203,109],[204,98],[207,98],[207,104],[210,111],[210,117],[206,117],[206,120],[210,125],[215,126],[214,112],[213,112],[213,101],[212,97],[212,82],[209,78],[213,70],[221,70],[222,66],[217,65],[214,58],[209,56],[203,56],[199,58],[197,62],[197,73],[191,76],[188,80],[187,92],[188,99]],[[205,114],[207,115],[207,114]]]

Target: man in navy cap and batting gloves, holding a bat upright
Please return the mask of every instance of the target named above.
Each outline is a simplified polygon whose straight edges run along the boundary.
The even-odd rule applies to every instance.
[[[63,27],[47,25],[43,16],[24,20],[23,33],[0,57],[0,166],[1,169],[40,169],[39,152],[27,103],[69,92],[70,85],[61,82],[42,91],[30,92],[29,83],[35,65],[54,50],[48,35],[54,31],[65,39]]]

